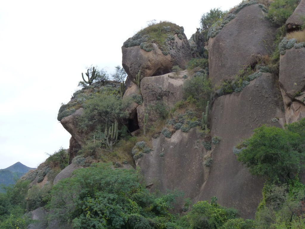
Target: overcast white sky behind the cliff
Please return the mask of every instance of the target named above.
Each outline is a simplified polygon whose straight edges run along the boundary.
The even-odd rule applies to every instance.
[[[190,36],[203,13],[225,1],[32,1],[0,4],[0,169],[20,161],[37,167],[70,134],[57,121],[81,73],[122,64],[121,46],[150,20],[183,26]],[[200,2],[200,3],[199,3]]]

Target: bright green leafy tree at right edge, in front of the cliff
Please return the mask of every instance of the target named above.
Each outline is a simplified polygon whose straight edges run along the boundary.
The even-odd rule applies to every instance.
[[[305,167],[305,119],[286,125],[286,129],[263,125],[246,140],[238,161],[256,176],[270,180],[294,178]]]

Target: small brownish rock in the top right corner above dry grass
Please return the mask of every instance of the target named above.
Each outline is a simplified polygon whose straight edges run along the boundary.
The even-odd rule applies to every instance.
[[[304,24],[304,15],[305,15],[305,0],[301,0],[299,5],[296,7],[292,15],[286,21],[286,31],[299,30],[300,27]]]

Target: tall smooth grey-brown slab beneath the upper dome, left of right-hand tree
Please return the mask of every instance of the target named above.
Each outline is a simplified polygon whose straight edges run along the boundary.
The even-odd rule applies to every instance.
[[[211,136],[222,139],[212,146],[210,176],[196,201],[216,196],[219,204],[239,209],[244,218],[254,218],[264,180],[251,176],[232,149],[242,138],[250,137],[259,125],[284,125],[279,97],[276,77],[263,73],[242,92],[221,96],[215,101],[211,111]],[[273,118],[279,121],[273,123]]]

